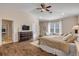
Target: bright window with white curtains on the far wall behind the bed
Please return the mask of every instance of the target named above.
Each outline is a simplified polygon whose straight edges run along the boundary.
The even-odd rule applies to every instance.
[[[48,32],[52,34],[61,34],[62,33],[62,26],[61,21],[57,22],[49,22],[48,24]]]

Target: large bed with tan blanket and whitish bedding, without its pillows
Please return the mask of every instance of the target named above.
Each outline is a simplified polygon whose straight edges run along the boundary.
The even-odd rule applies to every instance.
[[[62,36],[44,36],[39,38],[41,49],[58,56],[75,56],[76,47],[74,43],[67,43]]]

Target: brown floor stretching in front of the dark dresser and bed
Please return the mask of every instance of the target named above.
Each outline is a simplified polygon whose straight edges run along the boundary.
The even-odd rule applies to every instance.
[[[0,46],[1,56],[53,56],[27,41]]]

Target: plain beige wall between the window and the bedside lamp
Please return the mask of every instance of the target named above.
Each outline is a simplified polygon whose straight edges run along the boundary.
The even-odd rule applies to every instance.
[[[62,33],[73,32],[72,27],[76,25],[77,16],[63,18],[62,20]]]

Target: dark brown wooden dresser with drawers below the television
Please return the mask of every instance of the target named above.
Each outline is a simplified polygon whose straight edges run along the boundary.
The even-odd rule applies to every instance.
[[[19,32],[18,35],[19,35],[19,42],[32,39],[33,37],[32,31]]]

